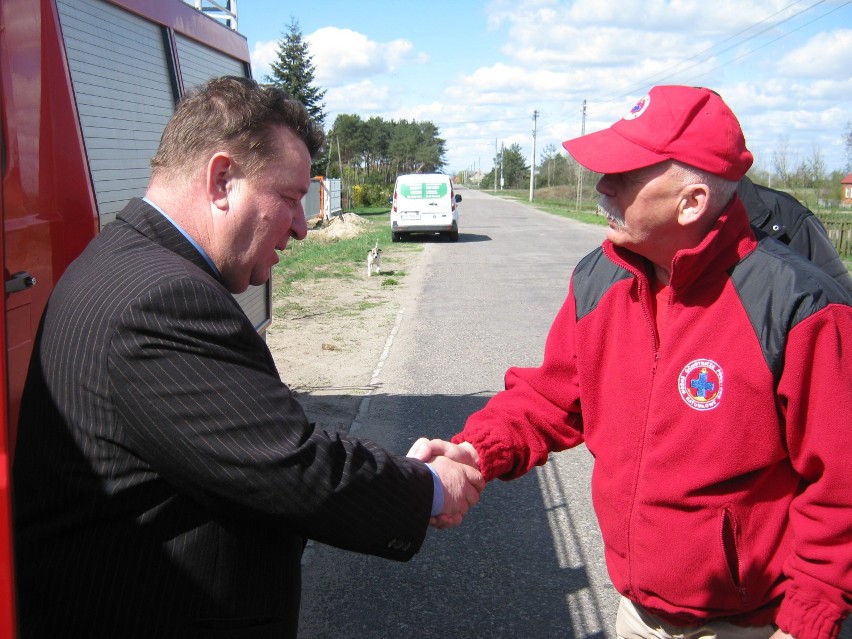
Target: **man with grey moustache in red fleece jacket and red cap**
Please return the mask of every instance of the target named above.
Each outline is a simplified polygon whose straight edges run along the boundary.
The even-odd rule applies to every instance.
[[[607,239],[575,269],[542,365],[510,368],[450,453],[508,480],[586,444],[619,637],[836,637],[852,601],[848,292],[755,237],[736,195],[752,154],[713,91],[655,87],[564,146],[603,174]]]

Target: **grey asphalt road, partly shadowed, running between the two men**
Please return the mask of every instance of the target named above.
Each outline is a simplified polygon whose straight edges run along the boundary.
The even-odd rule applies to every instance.
[[[459,240],[425,241],[423,287],[404,309],[357,434],[404,453],[449,438],[541,362],[577,261],[604,227],[461,190]],[[397,563],[311,544],[300,637],[614,637],[617,595],[589,500],[585,449],[493,482],[462,526],[431,530]]]

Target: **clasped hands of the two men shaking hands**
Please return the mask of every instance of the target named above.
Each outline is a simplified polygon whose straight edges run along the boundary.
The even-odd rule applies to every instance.
[[[431,465],[444,487],[444,507],[429,523],[442,529],[458,526],[485,489],[476,449],[467,442],[452,444],[421,437],[414,442],[407,457]]]

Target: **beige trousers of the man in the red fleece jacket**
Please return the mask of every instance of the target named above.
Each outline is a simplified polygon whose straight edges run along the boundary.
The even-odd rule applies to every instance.
[[[773,632],[774,626],[736,626],[726,621],[681,628],[658,619],[625,597],[621,598],[615,618],[618,639],[768,639]]]

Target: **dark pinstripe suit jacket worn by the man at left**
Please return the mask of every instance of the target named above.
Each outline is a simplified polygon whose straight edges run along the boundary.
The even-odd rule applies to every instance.
[[[305,538],[406,560],[425,536],[425,465],[314,430],[141,200],[58,283],[24,395],[23,637],[294,637]]]

